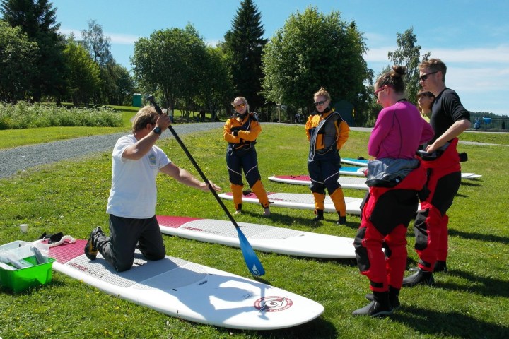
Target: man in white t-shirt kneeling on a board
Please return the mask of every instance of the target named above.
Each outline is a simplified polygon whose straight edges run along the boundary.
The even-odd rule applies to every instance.
[[[112,186],[107,202],[110,237],[100,227],[90,233],[85,246],[90,260],[94,260],[99,251],[117,272],[122,272],[131,268],[136,248],[148,260],[165,257],[163,236],[156,219],[156,176],[159,172],[181,184],[209,191],[208,184],[177,167],[155,145],[168,126],[170,117],[167,114],[159,115],[156,109],[146,106],[134,117],[133,133],[117,140],[112,153]],[[210,184],[214,190],[221,190]]]

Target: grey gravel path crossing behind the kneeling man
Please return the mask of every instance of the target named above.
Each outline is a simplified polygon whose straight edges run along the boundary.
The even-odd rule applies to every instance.
[[[278,124],[278,123],[264,123]],[[199,124],[174,124],[172,125],[177,134],[184,135],[199,131],[208,131],[224,126],[223,122],[204,122]],[[352,127],[353,131],[371,131],[368,128]],[[60,160],[71,159],[74,157],[83,157],[92,153],[111,151],[115,142],[125,132],[107,134],[101,136],[86,136],[83,138],[74,138],[64,141],[54,141],[52,143],[40,143],[37,145],[20,146],[0,150],[0,179],[10,177],[18,171],[23,171],[30,167],[50,164]],[[173,138],[168,131],[163,133],[161,138]],[[460,141],[464,144],[474,145],[496,145],[491,143],[474,143],[469,141]],[[498,145],[503,146],[503,145]]]

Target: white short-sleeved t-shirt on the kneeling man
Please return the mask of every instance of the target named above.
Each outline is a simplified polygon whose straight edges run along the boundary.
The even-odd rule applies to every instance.
[[[146,219],[156,215],[156,176],[159,169],[171,161],[156,145],[140,160],[122,157],[125,148],[136,142],[134,135],[129,135],[122,136],[115,144],[112,186],[106,212],[117,217]]]

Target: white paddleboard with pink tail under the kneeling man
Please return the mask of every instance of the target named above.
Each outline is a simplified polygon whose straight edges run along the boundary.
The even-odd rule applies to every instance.
[[[146,261],[138,251],[130,270],[117,273],[86,240],[49,249],[53,268],[104,292],[187,321],[226,328],[272,330],[317,318],[324,307],[277,287],[166,256]]]

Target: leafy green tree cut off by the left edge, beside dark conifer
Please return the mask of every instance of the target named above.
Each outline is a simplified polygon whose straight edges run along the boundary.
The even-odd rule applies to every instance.
[[[27,78],[33,78],[37,44],[30,42],[21,28],[12,28],[0,20],[0,101],[25,99],[30,89]]]

